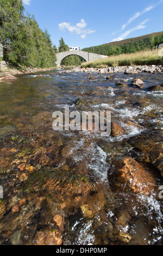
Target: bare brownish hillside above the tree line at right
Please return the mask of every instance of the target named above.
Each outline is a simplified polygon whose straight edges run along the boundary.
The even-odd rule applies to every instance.
[[[128,39],[125,39],[125,40],[121,40],[121,41],[116,41],[116,42],[109,42],[107,44],[103,44],[103,45],[124,45],[124,44],[128,44],[129,42],[131,41],[135,41],[135,42],[138,42],[142,39],[145,39],[145,38],[149,38],[150,36],[157,36],[157,35],[162,35],[163,31],[162,32],[155,32],[155,33],[151,33],[151,34],[147,34],[147,35],[142,35],[142,36],[137,36],[136,38],[128,38]]]

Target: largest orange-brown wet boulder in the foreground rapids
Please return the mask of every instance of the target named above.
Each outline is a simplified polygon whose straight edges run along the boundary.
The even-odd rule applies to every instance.
[[[112,174],[108,175],[108,179],[120,191],[130,189],[136,194],[151,196],[155,190],[156,182],[152,174],[131,157],[117,160]]]

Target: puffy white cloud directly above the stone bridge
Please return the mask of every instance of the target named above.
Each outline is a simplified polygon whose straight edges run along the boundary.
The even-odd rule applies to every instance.
[[[75,26],[71,25],[70,22],[59,23],[58,27],[61,31],[68,31],[72,34],[80,35],[82,39],[86,38],[87,34],[93,34],[96,31],[93,29],[86,29],[87,23],[84,19],[81,19]]]

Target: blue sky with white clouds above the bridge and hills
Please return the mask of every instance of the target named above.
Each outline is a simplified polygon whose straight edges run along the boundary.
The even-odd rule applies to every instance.
[[[163,31],[163,0],[23,0],[56,46],[81,48]]]

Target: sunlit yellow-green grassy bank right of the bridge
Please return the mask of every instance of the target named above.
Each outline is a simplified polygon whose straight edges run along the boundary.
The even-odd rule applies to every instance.
[[[107,66],[135,66],[135,65],[163,65],[163,57],[159,57],[159,50],[142,51],[130,54],[110,56],[93,62],[82,63],[82,68],[105,68]]]

